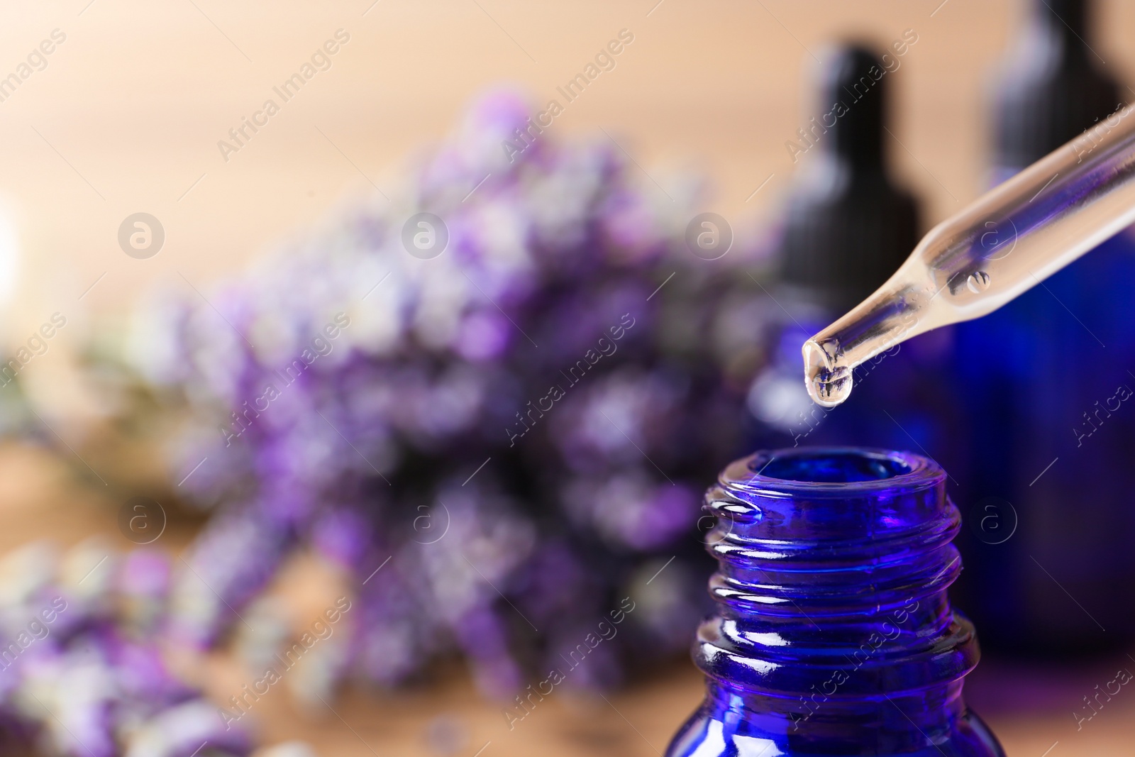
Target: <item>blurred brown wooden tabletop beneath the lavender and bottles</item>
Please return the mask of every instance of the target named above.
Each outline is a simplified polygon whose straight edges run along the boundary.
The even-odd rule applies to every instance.
[[[132,545],[116,530],[118,503],[83,482],[62,455],[26,446],[0,447],[0,554],[30,539],[61,545],[99,536],[121,549]],[[171,522],[159,546],[184,548],[192,529]],[[326,606],[333,578],[300,563],[284,572],[277,590],[299,617]],[[309,612],[310,611],[310,612]],[[980,631],[980,630],[978,630]],[[1135,650],[1132,650],[1135,653]],[[173,661],[186,679],[225,701],[250,672],[225,654],[208,661]],[[1077,729],[1083,697],[1135,662],[1117,653],[1079,664],[1010,664],[986,658],[966,682],[966,698],[993,727],[1010,757],[1129,757],[1135,738],[1135,692],[1126,687]],[[460,670],[430,684],[397,692],[343,692],[330,706],[299,699],[284,687],[257,703],[249,718],[266,743],[300,739],[320,757],[411,755],[472,757],[650,757],[697,707],[703,679],[692,664],[675,661],[606,699],[557,690],[523,721],[508,727],[504,705],[479,696]],[[1051,749],[1051,751],[1049,751]]]

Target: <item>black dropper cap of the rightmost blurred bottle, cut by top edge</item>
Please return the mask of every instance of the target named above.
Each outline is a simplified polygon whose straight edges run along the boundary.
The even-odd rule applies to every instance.
[[[1091,11],[1087,0],[1034,0],[993,104],[997,166],[1024,168],[1118,108],[1119,87],[1086,42]]]

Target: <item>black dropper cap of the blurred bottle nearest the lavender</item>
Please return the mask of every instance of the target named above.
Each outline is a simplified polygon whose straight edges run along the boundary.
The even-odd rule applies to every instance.
[[[789,143],[793,158],[819,155],[808,155],[812,165],[788,200],[781,276],[824,306],[858,304],[918,242],[918,203],[884,166],[893,76],[867,48],[836,49],[823,68],[819,113]]]

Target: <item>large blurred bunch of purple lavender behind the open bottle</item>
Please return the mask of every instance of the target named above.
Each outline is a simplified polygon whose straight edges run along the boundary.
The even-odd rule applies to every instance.
[[[321,690],[396,684],[456,651],[507,696],[671,557],[693,580],[651,584],[657,612],[628,621],[641,632],[569,685],[686,647],[708,574],[697,493],[735,453],[743,406],[698,326],[717,294],[681,242],[698,187],[644,186],[609,141],[546,135],[512,160],[502,141],[528,115],[486,96],[393,202],[213,292],[220,317],[191,292],[140,313],[133,363],[187,411],[173,478],[218,508],[175,566],[182,644],[216,644],[312,548],[358,605],[350,644],[311,672]],[[422,211],[448,233],[428,260],[402,242]]]

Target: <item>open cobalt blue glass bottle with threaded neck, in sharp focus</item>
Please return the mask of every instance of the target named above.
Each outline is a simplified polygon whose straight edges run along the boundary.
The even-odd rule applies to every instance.
[[[947,598],[961,565],[944,481],[930,459],[855,447],[726,468],[705,504],[708,691],[667,757],[1003,757],[961,697],[978,649]]]

